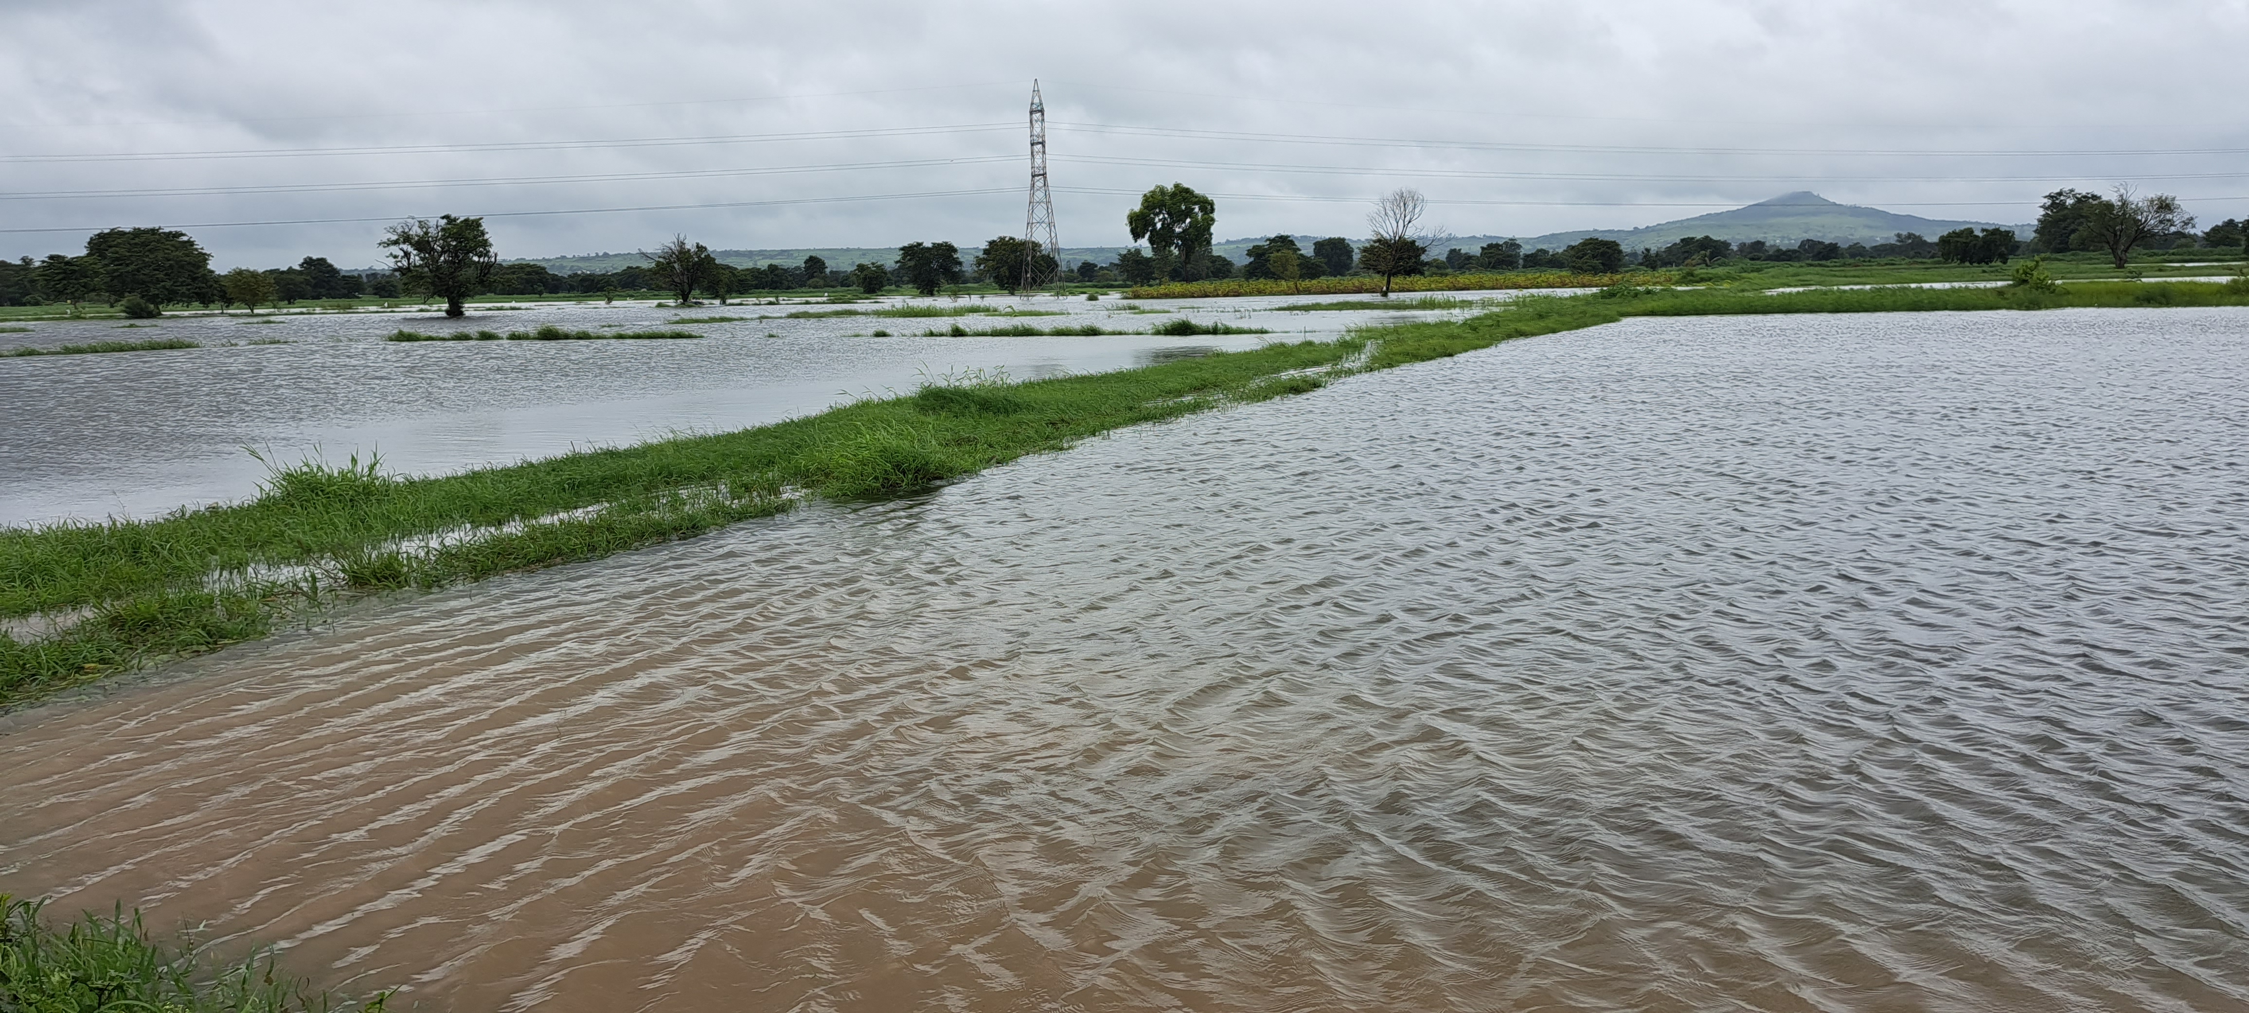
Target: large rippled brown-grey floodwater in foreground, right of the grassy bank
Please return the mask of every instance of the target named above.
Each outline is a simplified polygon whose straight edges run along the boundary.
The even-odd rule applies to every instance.
[[[2249,314],[1628,321],[0,734],[425,1009],[2249,1009]]]

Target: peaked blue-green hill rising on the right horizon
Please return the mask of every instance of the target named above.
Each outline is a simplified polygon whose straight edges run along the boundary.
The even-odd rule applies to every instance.
[[[1952,229],[2015,229],[2017,236],[2031,238],[2029,225],[1995,225],[1995,222],[1954,222],[1921,216],[1900,216],[1894,211],[1882,211],[1878,207],[1837,204],[1813,191],[1781,193],[1772,200],[1759,200],[1750,207],[1736,207],[1732,211],[1714,211],[1707,216],[1680,218],[1676,222],[1646,225],[1640,229],[1588,229],[1588,231],[1550,231],[1545,236],[1532,236],[1523,243],[1523,249],[1561,249],[1588,236],[1613,238],[1624,245],[1624,249],[1640,247],[1669,247],[1689,236],[1711,236],[1727,243],[1765,240],[1777,245],[1797,245],[1801,240],[1815,238],[1822,243],[1889,243],[1891,236],[1900,231],[1918,231],[1923,238],[1936,238]],[[1478,236],[1480,238],[1480,236]],[[1489,243],[1489,240],[1484,240]],[[1464,247],[1462,243],[1453,243]]]

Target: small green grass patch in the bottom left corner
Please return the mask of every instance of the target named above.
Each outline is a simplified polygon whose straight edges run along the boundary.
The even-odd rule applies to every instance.
[[[362,1011],[380,1011],[387,995]],[[38,901],[0,894],[0,1011],[7,1013],[297,1013],[353,1009],[283,975],[272,952],[214,964],[196,946],[148,937],[139,912],[85,914],[65,928]]]

